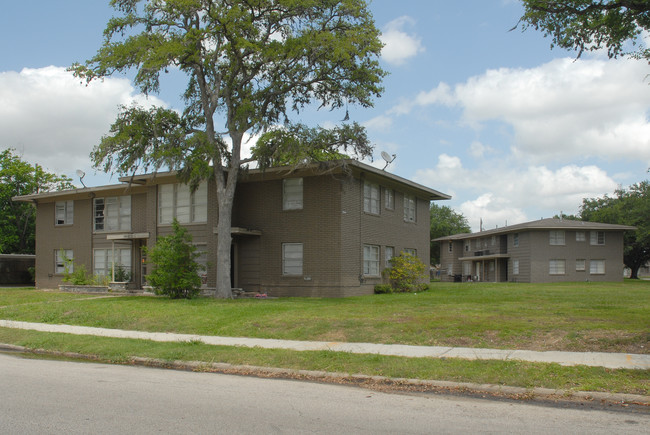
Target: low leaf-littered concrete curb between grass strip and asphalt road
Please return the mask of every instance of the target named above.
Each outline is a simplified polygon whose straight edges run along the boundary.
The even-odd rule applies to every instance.
[[[30,349],[23,346],[0,343],[0,352],[35,353],[83,360],[98,361],[91,355],[74,352],[58,352],[43,349]],[[100,360],[101,361],[101,360]],[[522,388],[494,384],[474,384],[469,382],[436,381],[426,379],[389,378],[385,376],[353,375],[349,373],[314,370],[294,370],[276,367],[233,365],[228,363],[206,363],[202,361],[164,361],[153,358],[133,357],[131,364],[174,370],[190,370],[256,376],[262,378],[300,379],[316,382],[355,385],[363,388],[389,391],[437,392],[449,394],[468,394],[491,396],[526,401],[545,402],[589,402],[606,405],[638,405],[650,407],[650,397],[635,394],[603,393],[589,391],[555,390],[550,388]]]

